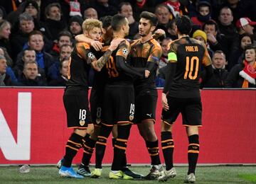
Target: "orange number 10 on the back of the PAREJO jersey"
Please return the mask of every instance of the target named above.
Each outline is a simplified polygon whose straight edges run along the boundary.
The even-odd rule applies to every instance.
[[[186,71],[184,74],[184,79],[194,80],[198,76],[198,68],[199,68],[199,58],[193,56],[191,58],[186,57]],[[194,74],[193,74],[194,72]]]

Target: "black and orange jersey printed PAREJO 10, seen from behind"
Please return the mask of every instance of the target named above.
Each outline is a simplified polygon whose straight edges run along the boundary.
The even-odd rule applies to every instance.
[[[173,53],[176,61],[172,58]],[[177,62],[170,95],[181,98],[198,96],[201,67],[211,64],[205,45],[188,37],[174,40],[170,45],[169,61]]]

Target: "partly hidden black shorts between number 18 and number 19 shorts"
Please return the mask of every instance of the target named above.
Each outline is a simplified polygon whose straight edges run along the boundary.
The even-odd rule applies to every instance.
[[[90,93],[90,113],[94,125],[100,125],[103,115],[103,96],[104,90],[95,90],[92,88]]]

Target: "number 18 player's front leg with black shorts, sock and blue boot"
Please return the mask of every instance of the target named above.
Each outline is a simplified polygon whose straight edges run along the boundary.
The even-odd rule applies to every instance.
[[[74,172],[71,167],[73,158],[82,147],[82,139],[85,137],[87,125],[91,122],[88,108],[87,91],[66,90],[63,102],[67,113],[68,127],[74,128],[65,146],[65,156],[60,167],[60,176],[83,178]]]

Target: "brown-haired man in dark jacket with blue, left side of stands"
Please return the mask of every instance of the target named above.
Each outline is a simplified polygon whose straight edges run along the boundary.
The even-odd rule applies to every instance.
[[[53,64],[53,57],[43,50],[43,34],[38,30],[33,30],[28,36],[28,47],[31,50],[36,51],[36,63],[38,67],[45,71],[45,74],[48,74],[49,67]],[[16,64],[23,65],[21,56],[23,51],[18,54],[18,59]],[[46,78],[48,78],[46,76]]]

